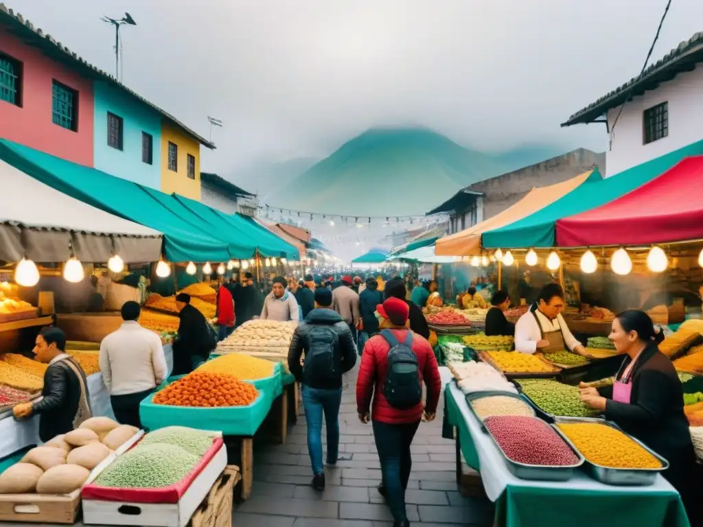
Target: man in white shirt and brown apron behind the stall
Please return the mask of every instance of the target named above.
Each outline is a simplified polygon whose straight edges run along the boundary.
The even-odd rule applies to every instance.
[[[585,353],[562,317],[565,305],[564,292],[558,284],[542,287],[536,304],[515,324],[515,351],[553,353],[568,349],[579,355]]]

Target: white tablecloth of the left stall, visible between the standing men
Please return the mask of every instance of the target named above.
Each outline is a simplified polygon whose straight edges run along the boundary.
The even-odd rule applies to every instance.
[[[167,370],[169,375],[173,370],[173,346],[164,346]],[[88,393],[90,396],[91,410],[96,417],[110,417],[115,419],[110,405],[110,393],[103,383],[103,374],[98,372],[88,377]],[[0,419],[0,459],[11,455],[30,445],[38,445],[39,441],[39,416],[35,415],[25,421],[16,421],[12,412],[8,417]]]

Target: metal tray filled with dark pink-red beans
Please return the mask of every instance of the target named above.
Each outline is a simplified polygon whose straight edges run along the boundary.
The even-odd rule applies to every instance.
[[[520,479],[567,481],[583,464],[560,431],[537,417],[498,415],[485,424],[506,466]]]

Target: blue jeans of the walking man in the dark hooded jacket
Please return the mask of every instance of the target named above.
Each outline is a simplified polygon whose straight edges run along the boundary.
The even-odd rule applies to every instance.
[[[303,384],[303,406],[308,425],[308,453],[313,474],[322,474],[322,415],[327,425],[327,462],[337,462],[340,448],[340,404],[342,388],[323,390]]]

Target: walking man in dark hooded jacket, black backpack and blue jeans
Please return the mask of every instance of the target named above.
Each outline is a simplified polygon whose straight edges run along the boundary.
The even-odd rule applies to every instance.
[[[332,291],[315,289],[315,308],[299,325],[288,350],[288,369],[302,383],[312,486],[325,489],[322,462],[322,416],[327,425],[327,463],[335,464],[340,443],[339,413],[342,374],[356,363],[356,346],[349,325],[332,306]],[[300,356],[305,353],[303,365]]]

